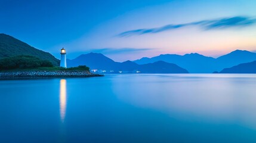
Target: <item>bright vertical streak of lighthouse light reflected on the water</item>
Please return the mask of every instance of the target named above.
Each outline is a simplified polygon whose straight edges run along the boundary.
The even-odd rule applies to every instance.
[[[64,122],[66,115],[66,104],[67,104],[67,94],[66,94],[66,79],[60,80],[60,119]]]

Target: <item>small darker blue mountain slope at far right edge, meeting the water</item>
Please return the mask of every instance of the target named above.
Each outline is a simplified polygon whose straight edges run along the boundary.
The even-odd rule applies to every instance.
[[[226,68],[221,70],[220,73],[256,73],[256,61]]]

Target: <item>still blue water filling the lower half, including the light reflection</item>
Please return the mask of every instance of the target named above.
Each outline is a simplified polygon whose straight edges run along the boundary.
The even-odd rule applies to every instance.
[[[256,142],[256,74],[0,80],[0,142]]]

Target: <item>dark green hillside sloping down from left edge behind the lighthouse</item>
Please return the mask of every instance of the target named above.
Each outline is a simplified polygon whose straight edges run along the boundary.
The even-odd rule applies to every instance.
[[[60,63],[60,60],[49,52],[36,49],[12,36],[0,34],[0,59],[16,55],[32,55],[41,60],[48,60],[53,63],[54,66],[59,66]]]

